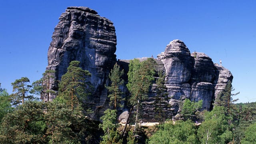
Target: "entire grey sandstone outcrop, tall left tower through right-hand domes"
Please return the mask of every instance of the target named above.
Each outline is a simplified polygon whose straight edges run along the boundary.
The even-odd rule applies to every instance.
[[[46,67],[46,70],[55,70],[54,78],[50,80],[51,89],[58,90],[58,81],[71,61],[80,61],[81,68],[92,74],[89,81],[94,86],[94,92],[88,101],[94,111],[92,117],[99,120],[103,111],[109,108],[105,85],[110,84],[108,75],[116,62],[124,69],[124,85],[120,87],[123,96],[129,95],[126,88],[129,60],[116,61],[115,28],[110,20],[100,17],[96,11],[87,7],[68,7],[59,20],[52,35]],[[140,58],[140,61],[143,60],[146,58]],[[166,74],[166,102],[172,106],[166,108],[168,116],[179,112],[180,102],[185,98],[195,102],[203,100],[202,109],[210,110],[218,93],[233,79],[229,70],[214,64],[206,54],[191,54],[181,40],[170,42],[154,60],[157,63],[156,71]],[[158,75],[155,78],[157,80]],[[142,104],[144,121],[154,122],[155,88],[156,84],[153,84],[148,100]],[[51,95],[49,100],[55,96]],[[126,122],[127,114],[128,108],[124,106],[120,121]]]

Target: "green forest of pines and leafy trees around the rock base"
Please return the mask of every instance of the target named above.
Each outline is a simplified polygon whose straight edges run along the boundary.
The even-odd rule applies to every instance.
[[[255,144],[256,102],[235,102],[234,88],[229,82],[214,100],[211,111],[202,110],[202,100],[180,103],[180,118],[173,120],[165,113],[168,104],[165,75],[158,72],[156,80],[155,119],[159,124],[142,126],[142,102],[154,75],[156,62],[148,58],[140,62],[130,60],[128,84],[130,94],[122,98],[120,85],[124,71],[118,64],[109,74],[109,109],[101,121],[92,120],[87,97],[93,86],[91,76],[72,61],[61,78],[58,92],[50,89],[53,70],[46,70],[42,78],[30,85],[27,77],[12,83],[13,93],[0,87],[0,143],[1,144]],[[57,93],[52,101],[43,96]],[[238,93],[237,93],[238,94]],[[129,106],[125,125],[118,124],[118,114],[123,102]]]

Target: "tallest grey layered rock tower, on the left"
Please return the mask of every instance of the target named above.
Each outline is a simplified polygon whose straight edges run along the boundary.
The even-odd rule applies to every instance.
[[[94,86],[90,102],[96,112],[105,105],[108,74],[116,61],[116,33],[113,22],[100,17],[87,7],[68,7],[59,18],[48,50],[46,70],[55,70],[51,89],[58,90],[57,80],[66,73],[69,63],[80,61],[80,66],[92,76]],[[50,100],[55,95],[50,96]],[[96,118],[97,119],[97,118]]]

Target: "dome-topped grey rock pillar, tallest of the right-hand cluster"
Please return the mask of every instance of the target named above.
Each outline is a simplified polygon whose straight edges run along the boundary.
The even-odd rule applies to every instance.
[[[165,51],[158,55],[158,58],[164,64],[168,97],[176,113],[179,105],[174,104],[172,100],[190,98],[193,59],[187,46],[181,40],[171,41]]]

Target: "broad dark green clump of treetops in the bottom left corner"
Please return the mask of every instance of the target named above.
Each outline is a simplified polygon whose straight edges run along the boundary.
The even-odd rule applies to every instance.
[[[47,103],[26,101],[3,118],[0,143],[85,143],[92,137],[89,124],[82,108],[71,110],[56,100]]]

